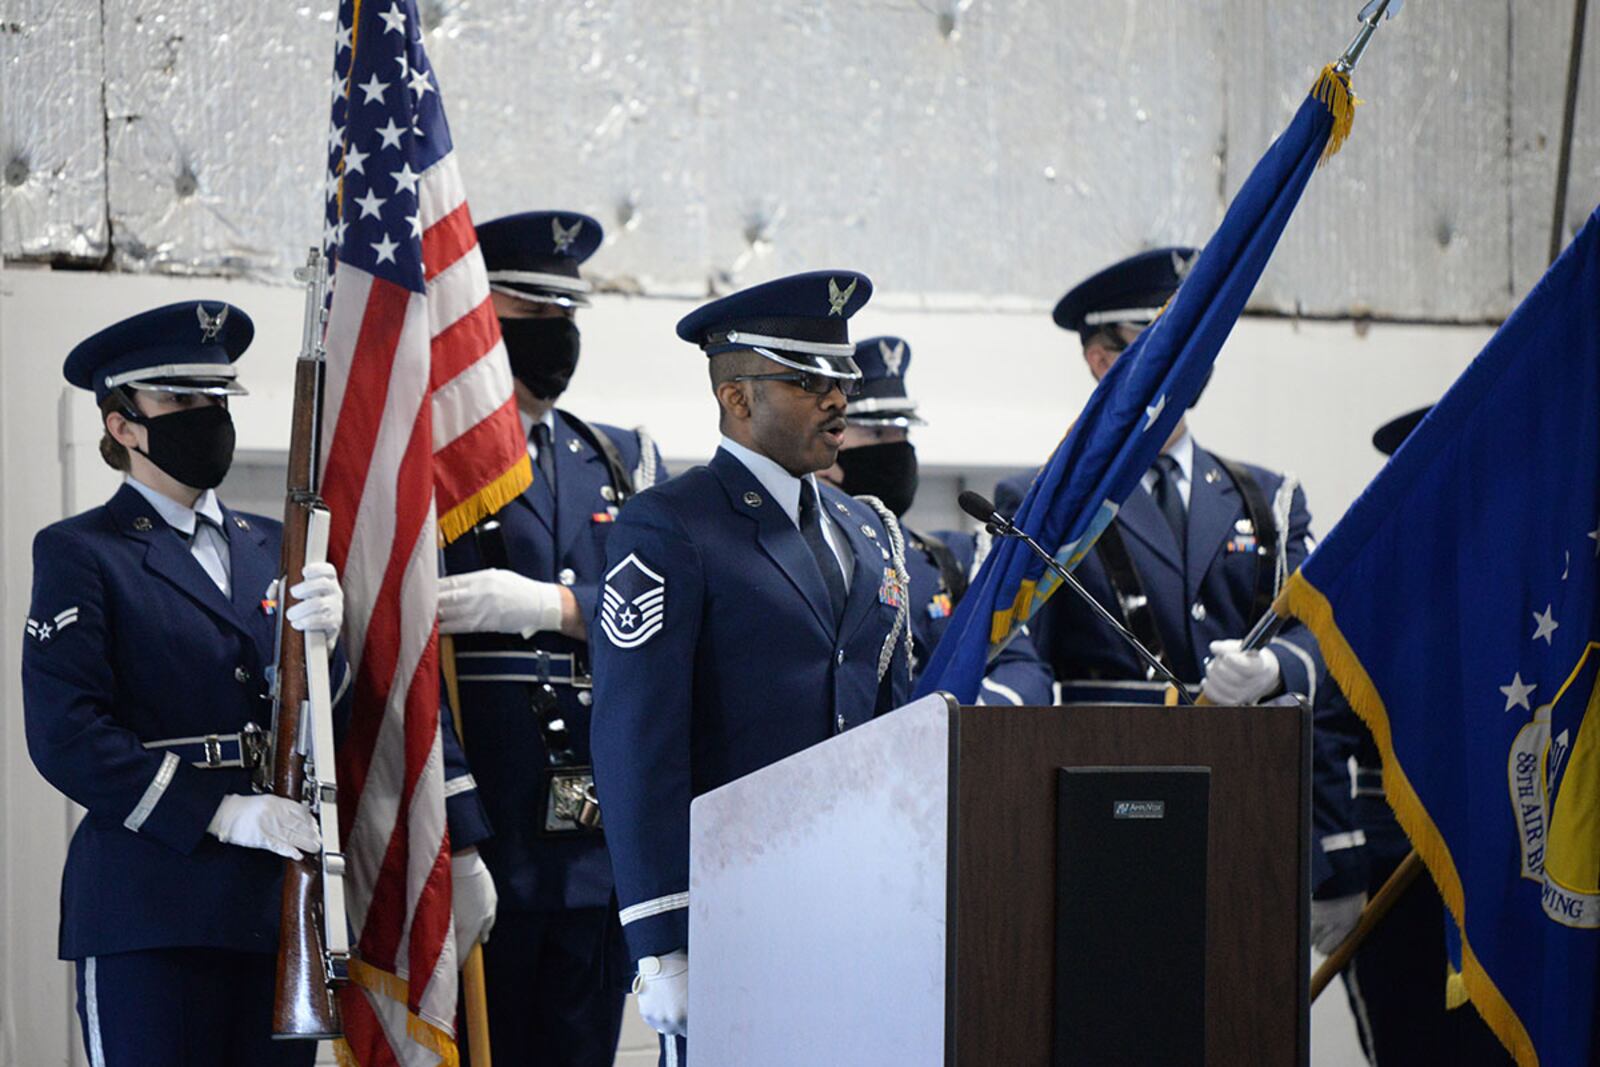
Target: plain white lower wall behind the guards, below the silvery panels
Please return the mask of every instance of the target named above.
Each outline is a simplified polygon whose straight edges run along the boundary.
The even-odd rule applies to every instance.
[[[40,526],[101,502],[115,477],[94,454],[91,398],[59,376],[67,349],[120,317],[179,299],[227,299],[256,320],[242,363],[251,397],[235,405],[245,454],[282,451],[299,346],[296,290],[6,267],[0,274],[0,1067],[69,1062],[70,973],[54,960],[56,893],[70,806],[29,763],[19,649],[29,544]],[[670,459],[715,446],[704,358],[672,323],[690,304],[602,298],[582,318],[584,363],[573,410],[648,424]],[[1077,344],[1032,312],[869,309],[861,331],[910,339],[910,384],[930,426],[923,462],[971,483],[1037,464],[1088,394]],[[1224,454],[1296,470],[1315,528],[1326,531],[1379,466],[1368,437],[1384,419],[1438,397],[1488,338],[1483,328],[1243,322],[1224,352],[1197,435]],[[1317,1013],[1317,1062],[1350,1059],[1341,992]],[[80,1061],[82,1062],[82,1061]]]

